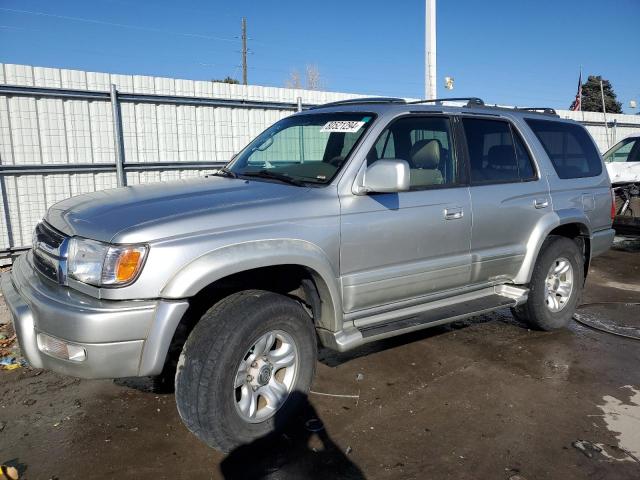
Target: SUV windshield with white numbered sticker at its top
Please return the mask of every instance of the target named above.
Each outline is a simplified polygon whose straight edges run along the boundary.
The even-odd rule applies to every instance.
[[[236,175],[327,184],[373,123],[372,113],[294,115],[262,132],[228,165]],[[304,182],[304,183],[302,183]]]

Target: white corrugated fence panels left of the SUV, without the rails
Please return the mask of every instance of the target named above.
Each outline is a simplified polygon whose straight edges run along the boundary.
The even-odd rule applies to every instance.
[[[142,75],[84,72],[29,65],[0,64],[0,84],[120,93],[180,95],[304,103],[358,95],[276,87],[229,85]],[[224,162],[262,130],[291,114],[289,110],[237,109],[192,105],[120,105],[127,162]],[[104,101],[0,95],[0,163],[52,165],[114,163],[111,105]],[[203,175],[204,170],[128,172],[127,182],[168,181]],[[115,172],[13,175],[4,189],[13,247],[29,245],[31,232],[46,209],[64,198],[116,187]],[[0,211],[0,250],[9,248],[4,207]]]

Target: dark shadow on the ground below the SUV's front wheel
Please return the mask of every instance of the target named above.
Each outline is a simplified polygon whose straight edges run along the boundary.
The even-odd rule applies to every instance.
[[[295,391],[300,402],[292,419],[275,416],[274,432],[233,450],[220,464],[225,479],[364,479],[365,476],[336,445],[306,394]]]

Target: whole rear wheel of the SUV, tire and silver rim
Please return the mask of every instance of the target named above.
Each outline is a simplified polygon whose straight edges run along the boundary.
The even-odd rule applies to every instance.
[[[512,308],[516,319],[537,330],[566,327],[575,313],[584,284],[584,256],[566,237],[545,240],[531,275],[529,298]]]

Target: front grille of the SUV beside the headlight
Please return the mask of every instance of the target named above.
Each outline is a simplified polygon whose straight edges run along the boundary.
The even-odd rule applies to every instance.
[[[66,272],[61,267],[66,260],[67,237],[44,222],[38,224],[33,237],[36,270],[55,282],[63,283]]]

